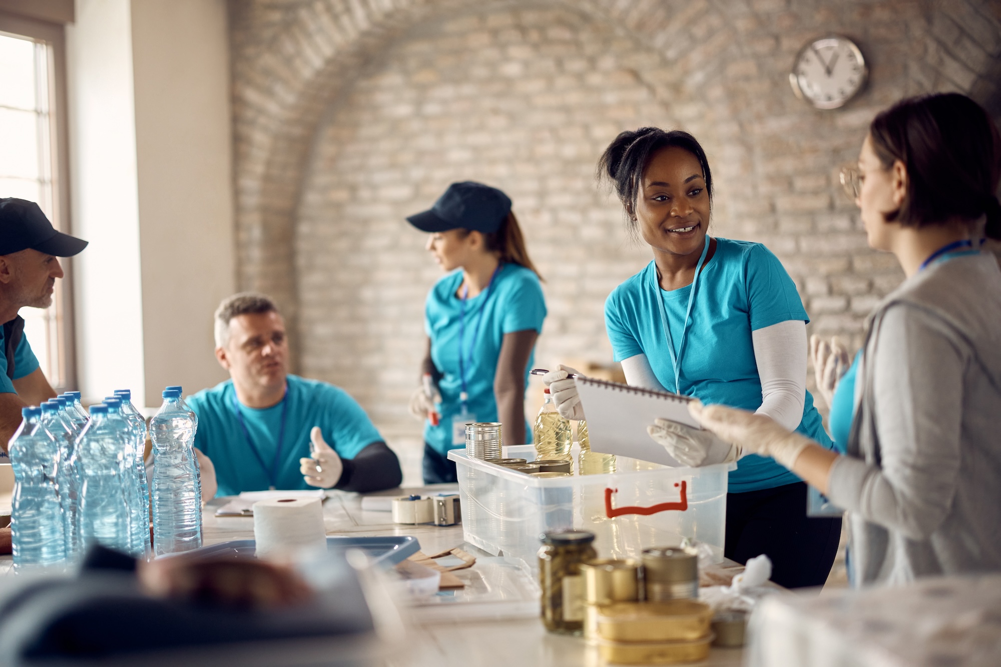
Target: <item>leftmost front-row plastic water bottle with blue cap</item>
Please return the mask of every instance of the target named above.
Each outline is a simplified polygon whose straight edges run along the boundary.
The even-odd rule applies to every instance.
[[[11,508],[14,569],[66,562],[65,526],[59,504],[59,443],[41,424],[40,408],[22,408],[23,421],[10,439],[14,469]]]

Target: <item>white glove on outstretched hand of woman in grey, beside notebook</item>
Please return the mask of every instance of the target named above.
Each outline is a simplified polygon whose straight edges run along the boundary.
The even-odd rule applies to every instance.
[[[702,402],[693,401],[689,404],[689,412],[703,428],[739,447],[743,455],[772,457],[789,469],[806,446],[813,443],[806,436],[787,431],[770,417],[746,410],[703,406]]]

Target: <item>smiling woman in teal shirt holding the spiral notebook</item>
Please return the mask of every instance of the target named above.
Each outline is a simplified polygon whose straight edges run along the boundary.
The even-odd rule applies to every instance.
[[[712,172],[696,138],[653,127],[623,132],[600,170],[654,254],[605,304],[627,382],[757,411],[830,446],[806,391],[809,318],[796,286],[764,245],[710,237]],[[543,380],[561,414],[584,419],[569,372]],[[841,519],[808,518],[807,488],[796,475],[769,458],[738,461],[708,431],[658,420],[648,432],[680,465],[737,461],[727,497],[728,558],[744,563],[767,554],[773,581],[789,588],[826,581]]]

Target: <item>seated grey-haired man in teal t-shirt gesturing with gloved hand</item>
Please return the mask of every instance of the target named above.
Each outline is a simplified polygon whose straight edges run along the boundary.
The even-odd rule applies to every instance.
[[[377,491],[398,486],[399,461],[343,390],[289,375],[285,325],[263,294],[215,312],[215,356],[230,380],[187,400],[195,447],[215,468],[219,496],[265,489]]]

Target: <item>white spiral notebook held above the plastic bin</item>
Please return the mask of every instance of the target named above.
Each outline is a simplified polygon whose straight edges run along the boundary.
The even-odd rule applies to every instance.
[[[689,397],[593,378],[578,378],[577,391],[594,452],[677,467],[682,464],[651,439],[647,427],[660,418],[701,428],[689,414]]]

